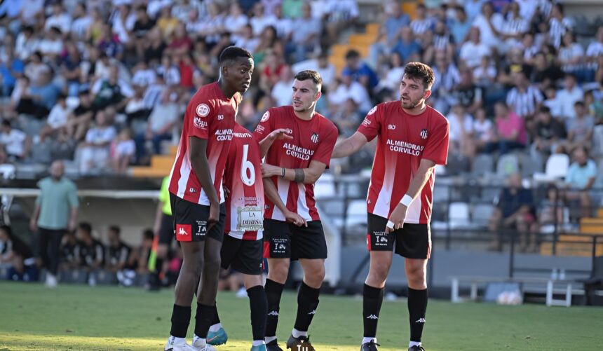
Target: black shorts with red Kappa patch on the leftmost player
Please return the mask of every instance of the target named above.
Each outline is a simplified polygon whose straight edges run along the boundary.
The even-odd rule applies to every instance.
[[[224,238],[224,223],[226,221],[226,205],[220,204],[220,215],[218,223],[212,226],[208,233],[208,217],[210,207],[199,205],[183,200],[170,193],[170,204],[172,205],[173,227],[177,241],[202,241],[205,237],[214,238],[222,242]]]

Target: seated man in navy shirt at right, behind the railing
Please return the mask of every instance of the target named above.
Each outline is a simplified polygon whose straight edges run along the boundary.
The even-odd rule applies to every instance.
[[[529,247],[536,245],[534,198],[531,191],[522,186],[522,178],[517,173],[508,177],[508,184],[501,191],[499,202],[490,219],[489,230],[494,234],[494,242],[490,249],[501,251],[502,229],[517,230],[520,252],[526,252]]]

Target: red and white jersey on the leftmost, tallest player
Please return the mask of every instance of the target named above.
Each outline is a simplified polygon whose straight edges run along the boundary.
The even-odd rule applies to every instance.
[[[207,139],[207,157],[218,200],[224,202],[222,175],[234,128],[240,95],[224,96],[217,82],[203,85],[192,97],[184,114],[184,125],[176,160],[170,173],[170,193],[189,202],[210,205],[191,167],[189,137]],[[221,157],[222,156],[222,157]]]

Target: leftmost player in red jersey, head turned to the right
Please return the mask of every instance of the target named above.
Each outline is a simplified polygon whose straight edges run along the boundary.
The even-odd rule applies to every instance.
[[[215,311],[226,207],[222,175],[240,94],[254,67],[248,50],[229,46],[219,56],[220,78],[203,85],[184,115],[182,137],[170,173],[170,204],[182,268],[175,288],[172,329],[165,350],[215,350],[205,342]],[[201,284],[199,280],[201,277]],[[197,289],[193,347],[186,336]]]

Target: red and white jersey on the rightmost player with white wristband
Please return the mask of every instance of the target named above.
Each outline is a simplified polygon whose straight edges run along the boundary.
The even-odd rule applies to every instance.
[[[377,137],[371,182],[367,195],[369,213],[389,218],[408,191],[422,159],[445,165],[448,158],[449,125],[438,111],[427,106],[419,115],[409,115],[400,101],[378,104],[358,127],[369,141]],[[435,174],[406,212],[405,223],[426,224],[431,220]]]

